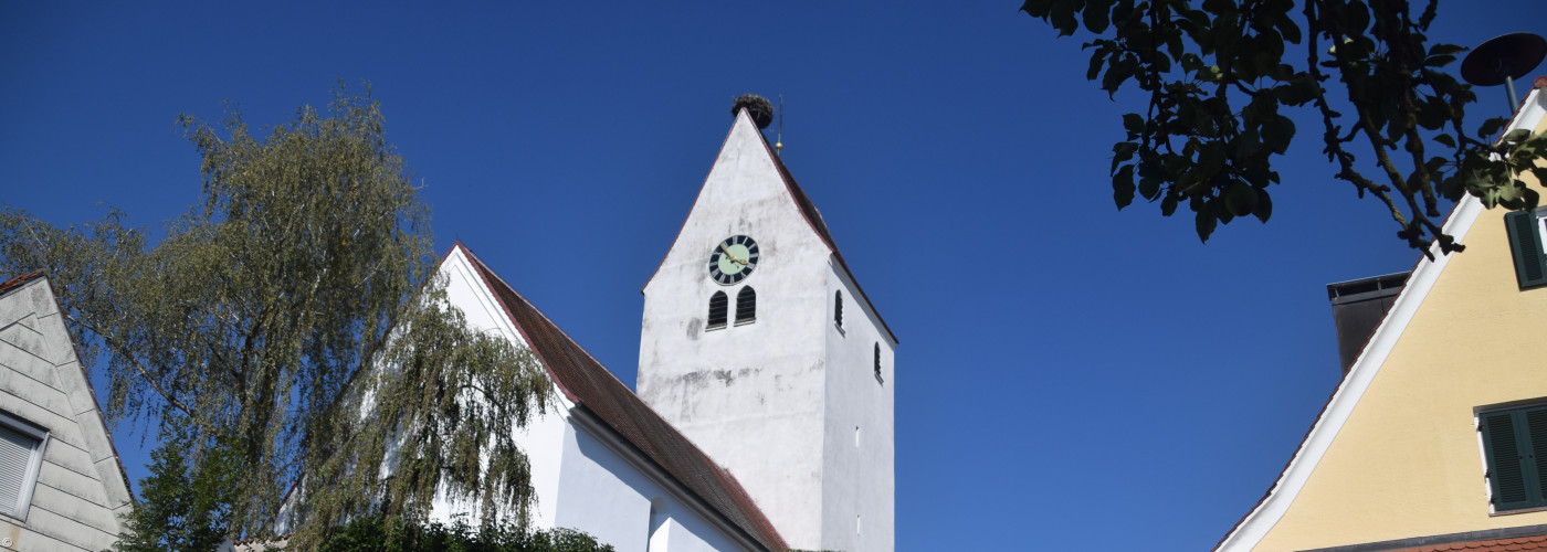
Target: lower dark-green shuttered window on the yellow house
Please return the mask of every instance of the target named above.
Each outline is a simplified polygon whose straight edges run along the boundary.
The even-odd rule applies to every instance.
[[[1477,416],[1493,510],[1547,506],[1547,405],[1496,410]],[[1538,461],[1541,458],[1541,461]]]

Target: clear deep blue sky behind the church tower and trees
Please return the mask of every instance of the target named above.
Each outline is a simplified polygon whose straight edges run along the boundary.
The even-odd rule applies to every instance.
[[[0,201],[158,227],[198,201],[178,113],[229,99],[272,125],[370,80],[436,246],[461,238],[633,382],[639,288],[730,101],[783,93],[784,162],[902,342],[900,550],[1207,549],[1337,385],[1326,285],[1419,255],[1304,118],[1269,224],[1200,244],[1190,215],[1117,212],[1111,144],[1142,97],[1109,101],[1084,37],[1015,0],[429,5],[0,3]],[[1446,2],[1433,36],[1544,15]],[[608,269],[574,269],[597,244]],[[141,436],[114,438],[144,476]]]

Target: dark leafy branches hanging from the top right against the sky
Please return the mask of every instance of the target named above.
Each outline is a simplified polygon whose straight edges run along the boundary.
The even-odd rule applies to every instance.
[[[1187,204],[1205,241],[1217,224],[1239,216],[1267,223],[1269,186],[1279,184],[1272,159],[1296,133],[1284,114],[1290,108],[1320,116],[1335,178],[1361,198],[1378,198],[1411,247],[1426,252],[1439,240],[1443,252],[1462,249],[1439,227],[1440,196],[1456,201],[1471,193],[1488,207],[1536,206],[1536,192],[1518,176],[1547,176],[1533,164],[1547,152],[1547,138],[1487,142],[1501,119],[1484,124],[1479,139],[1463,131],[1465,105],[1476,96],[1442,71],[1465,48],[1425,36],[1436,0],[1417,17],[1405,0],[1306,0],[1298,17],[1295,5],[1026,0],[1021,11],[1060,36],[1083,23],[1097,36],[1084,45],[1086,77],[1100,80],[1108,94],[1129,82],[1148,94],[1143,113],[1123,116],[1126,136],[1112,147],[1118,209],[1135,193],[1159,203],[1165,216]],[[1327,88],[1334,76],[1352,113],[1334,108],[1329,97],[1337,90]],[[1369,148],[1374,162],[1358,165],[1351,148]]]

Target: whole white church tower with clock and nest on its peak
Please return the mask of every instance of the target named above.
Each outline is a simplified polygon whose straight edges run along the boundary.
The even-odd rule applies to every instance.
[[[798,549],[894,549],[896,336],[743,96],[644,288],[639,396]]]

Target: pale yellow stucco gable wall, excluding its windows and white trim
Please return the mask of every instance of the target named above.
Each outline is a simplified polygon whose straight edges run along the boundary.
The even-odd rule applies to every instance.
[[[1547,523],[1490,513],[1477,434],[1479,408],[1547,400],[1547,289],[1518,288],[1504,215],[1477,216],[1259,550]]]

